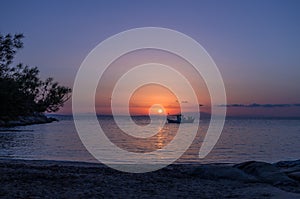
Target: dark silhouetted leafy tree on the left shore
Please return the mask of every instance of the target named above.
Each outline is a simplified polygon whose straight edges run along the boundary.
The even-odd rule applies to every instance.
[[[23,34],[0,34],[0,116],[55,112],[70,98],[71,89],[53,78],[42,81],[37,67],[12,66]]]

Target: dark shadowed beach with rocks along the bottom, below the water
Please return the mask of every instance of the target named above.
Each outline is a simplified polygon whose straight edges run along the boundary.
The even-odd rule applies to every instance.
[[[101,164],[0,159],[0,176],[0,198],[300,198],[300,160],[132,174]]]

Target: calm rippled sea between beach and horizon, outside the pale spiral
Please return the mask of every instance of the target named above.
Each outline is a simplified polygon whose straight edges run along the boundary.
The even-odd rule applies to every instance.
[[[69,116],[59,116],[60,122],[50,124],[15,127],[0,132],[0,158],[47,159],[97,162],[81,143]],[[125,139],[118,133],[113,120],[100,118],[108,137],[119,147],[134,152],[147,152],[167,145],[176,133],[176,124],[165,125],[159,138],[153,137],[146,142]],[[125,121],[126,122],[126,121]],[[139,118],[139,124],[147,124],[146,118]],[[177,161],[186,162],[229,162],[247,160],[276,162],[300,158],[300,122],[299,120],[234,120],[225,123],[222,135],[204,158],[198,158],[199,147],[206,132],[209,120],[200,122],[200,129],[193,144]],[[92,128],[92,127],[91,127]],[[17,131],[16,131],[17,130]],[[101,150],[105,150],[104,148]],[[112,160],[118,156],[110,157]],[[165,157],[164,157],[165,158]],[[134,159],[126,163],[134,162]],[[153,158],[159,163],[159,158]]]

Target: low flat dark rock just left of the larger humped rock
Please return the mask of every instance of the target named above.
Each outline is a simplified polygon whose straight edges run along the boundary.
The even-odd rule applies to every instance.
[[[257,182],[258,180],[238,168],[221,165],[201,165],[195,168],[191,173],[203,179],[217,180],[228,179],[241,182]]]

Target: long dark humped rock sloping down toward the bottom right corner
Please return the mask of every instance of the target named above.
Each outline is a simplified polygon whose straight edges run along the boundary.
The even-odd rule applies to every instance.
[[[285,173],[281,172],[279,168],[270,163],[249,161],[237,164],[234,167],[255,176],[261,182],[270,183],[272,185],[296,186],[298,184]]]

